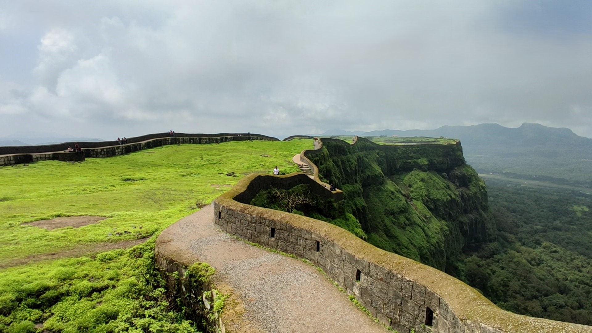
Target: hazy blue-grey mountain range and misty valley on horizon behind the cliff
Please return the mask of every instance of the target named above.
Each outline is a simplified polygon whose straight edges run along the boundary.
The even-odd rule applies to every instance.
[[[345,134],[348,132],[350,134]],[[354,135],[331,130],[318,136]],[[592,187],[592,139],[570,129],[524,123],[442,126],[434,130],[377,130],[358,136],[428,136],[460,139],[466,161],[479,172],[584,181]],[[536,177],[533,177],[536,176]]]

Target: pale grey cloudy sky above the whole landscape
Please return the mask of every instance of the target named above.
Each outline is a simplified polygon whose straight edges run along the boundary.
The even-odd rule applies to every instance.
[[[0,137],[592,137],[592,1],[0,0]]]

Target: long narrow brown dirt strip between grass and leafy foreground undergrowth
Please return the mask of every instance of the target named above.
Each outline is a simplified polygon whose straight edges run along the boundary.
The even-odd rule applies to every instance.
[[[76,258],[82,257],[83,255],[95,255],[101,252],[111,251],[114,249],[131,248],[131,246],[138,245],[146,242],[148,238],[134,239],[133,241],[122,241],[122,242],[105,242],[98,244],[83,244],[78,245],[74,248],[57,249],[56,252],[46,254],[34,254],[25,258],[18,258],[8,261],[0,262],[0,270],[8,267],[15,267],[24,264],[31,264],[32,262],[53,260],[60,258]]]

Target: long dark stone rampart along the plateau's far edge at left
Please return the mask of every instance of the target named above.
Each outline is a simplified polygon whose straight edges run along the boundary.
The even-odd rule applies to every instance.
[[[154,137],[163,136],[166,137]],[[148,138],[148,139],[146,139]],[[146,139],[146,140],[140,140]],[[142,149],[155,148],[164,145],[180,145],[183,143],[222,143],[229,141],[244,140],[272,140],[278,141],[275,137],[259,134],[242,133],[221,133],[221,134],[186,134],[175,133],[175,137],[168,136],[168,133],[152,134],[128,139],[126,145],[118,145],[117,142],[79,142],[82,148],[83,157],[98,158],[123,155],[126,153],[141,151]],[[84,158],[72,158],[71,154],[65,153],[73,143],[60,143],[60,145],[44,146],[18,146],[18,147],[0,147],[0,166],[14,165],[22,163],[37,162],[45,159],[57,159],[59,161],[81,161]],[[52,149],[57,149],[53,150]]]

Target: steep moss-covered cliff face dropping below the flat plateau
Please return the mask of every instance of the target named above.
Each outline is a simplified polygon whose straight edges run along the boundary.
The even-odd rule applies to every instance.
[[[379,248],[450,271],[465,246],[495,225],[487,188],[456,145],[355,145],[323,139],[307,151],[323,180],[345,193],[345,206]]]

